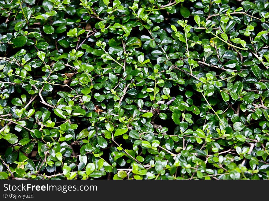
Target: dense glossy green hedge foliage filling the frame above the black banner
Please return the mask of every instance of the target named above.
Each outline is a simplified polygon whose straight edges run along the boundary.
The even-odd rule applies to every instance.
[[[269,178],[268,1],[0,6],[0,179]]]

